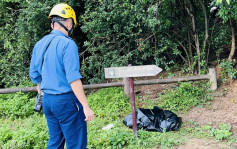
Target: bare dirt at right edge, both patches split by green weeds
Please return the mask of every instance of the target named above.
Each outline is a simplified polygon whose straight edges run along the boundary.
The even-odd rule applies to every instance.
[[[223,91],[226,90],[226,91]],[[213,93],[214,99],[210,105],[202,108],[194,107],[186,114],[181,114],[183,121],[192,120],[200,125],[230,124],[232,133],[237,136],[237,82],[221,87]],[[224,142],[215,140],[202,140],[189,138],[185,145],[177,149],[237,149],[237,146],[230,147]]]

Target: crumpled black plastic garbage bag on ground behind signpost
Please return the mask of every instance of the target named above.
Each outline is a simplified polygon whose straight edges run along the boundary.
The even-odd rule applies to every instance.
[[[182,119],[171,111],[162,110],[157,106],[153,109],[137,109],[137,129],[146,131],[175,131],[179,130]],[[132,114],[127,115],[123,123],[132,128]]]

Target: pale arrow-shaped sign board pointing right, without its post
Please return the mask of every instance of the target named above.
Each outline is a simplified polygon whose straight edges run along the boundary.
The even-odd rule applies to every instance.
[[[141,65],[130,67],[110,67],[105,68],[105,78],[126,78],[126,77],[145,77],[156,76],[162,71],[156,65]]]

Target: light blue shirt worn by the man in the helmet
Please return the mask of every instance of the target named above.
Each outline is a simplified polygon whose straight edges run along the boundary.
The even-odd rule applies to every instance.
[[[52,38],[53,40],[45,52]],[[61,31],[53,30],[36,43],[29,74],[34,83],[41,83],[40,89],[43,92],[47,94],[71,92],[70,83],[82,78],[79,70],[77,45]]]

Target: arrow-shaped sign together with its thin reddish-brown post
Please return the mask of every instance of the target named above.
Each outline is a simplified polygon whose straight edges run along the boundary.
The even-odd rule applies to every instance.
[[[110,67],[105,68],[105,78],[127,78],[129,77],[129,90],[132,109],[133,133],[137,137],[137,122],[136,122],[136,107],[134,95],[134,80],[133,77],[156,76],[162,71],[156,65],[142,65],[128,67]]]

